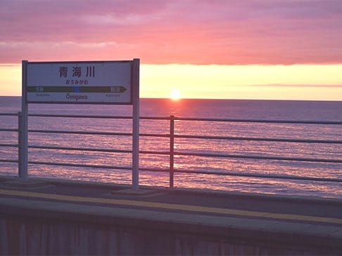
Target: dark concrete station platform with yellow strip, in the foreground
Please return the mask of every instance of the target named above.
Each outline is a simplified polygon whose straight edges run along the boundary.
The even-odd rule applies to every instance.
[[[101,236],[103,230],[122,227],[127,234],[144,231],[146,236],[143,232],[129,241],[127,246],[135,244],[137,249],[132,254],[184,254],[188,250],[193,250],[192,254],[227,254],[231,244],[246,253],[246,248],[253,248],[251,254],[342,254],[341,200],[158,187],[133,191],[127,185],[63,180],[27,182],[44,186],[18,187],[18,183],[0,178],[0,217],[6,230],[12,222],[25,227],[32,223],[52,227],[51,223],[62,222],[62,226],[78,225],[77,230],[101,227]],[[150,247],[154,249],[145,248],[151,239],[161,239],[161,247],[153,243]],[[120,242],[121,248],[125,241]],[[177,241],[184,248],[179,245],[177,249]]]

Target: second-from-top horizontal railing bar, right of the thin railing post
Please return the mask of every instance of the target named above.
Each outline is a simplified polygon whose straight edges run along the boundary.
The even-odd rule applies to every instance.
[[[324,143],[342,144],[342,140],[302,140],[287,138],[268,138],[268,137],[230,137],[230,136],[207,136],[207,135],[174,135],[174,137],[188,139],[208,139],[208,140],[255,140],[266,142],[302,142],[302,143]]]

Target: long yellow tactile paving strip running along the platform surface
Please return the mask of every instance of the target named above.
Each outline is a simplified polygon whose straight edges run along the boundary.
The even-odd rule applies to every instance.
[[[218,213],[224,215],[238,215],[242,217],[263,217],[277,220],[296,220],[296,221],[308,221],[308,222],[325,222],[331,224],[342,224],[342,219],[331,218],[331,217],[317,217],[309,215],[293,215],[293,214],[282,214],[282,213],[265,213],[256,212],[251,210],[236,210],[229,208],[213,208],[205,206],[189,206],[184,204],[176,203],[156,203],[148,201],[134,201],[134,200],[122,200],[122,199],[111,199],[111,198],[94,198],[94,197],[83,197],[83,196],[65,196],[58,194],[44,194],[31,191],[18,191],[18,190],[5,190],[0,189],[0,194],[6,196],[23,196],[30,198],[44,198],[57,201],[72,201],[80,203],[106,203],[118,206],[138,206],[144,208],[160,208],[163,210],[182,210],[191,211],[198,213]]]

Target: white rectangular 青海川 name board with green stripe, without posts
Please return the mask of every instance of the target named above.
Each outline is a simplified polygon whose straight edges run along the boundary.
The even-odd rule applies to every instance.
[[[132,61],[27,62],[27,102],[132,104]]]

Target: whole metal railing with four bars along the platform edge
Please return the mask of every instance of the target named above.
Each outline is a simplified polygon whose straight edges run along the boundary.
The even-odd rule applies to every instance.
[[[15,159],[0,159],[0,162],[18,163],[20,166],[20,112],[18,114],[0,113],[0,116],[18,116],[18,128],[0,128],[3,132],[18,132],[18,144],[0,143],[0,147],[18,147],[18,160]],[[29,116],[39,117],[63,117],[63,118],[87,118],[87,119],[132,119],[132,116],[96,116],[96,115],[65,115],[65,114],[29,114]],[[302,161],[302,162],[317,162],[317,163],[342,163],[342,159],[317,159],[317,158],[300,158],[286,156],[250,156],[236,154],[221,154],[221,153],[196,153],[175,151],[175,138],[202,139],[202,140],[245,140],[245,141],[263,141],[263,142],[296,142],[296,143],[321,143],[321,144],[342,144],[342,140],[303,140],[292,138],[270,138],[270,137],[234,137],[234,136],[207,136],[207,135],[180,135],[175,134],[175,121],[211,121],[211,122],[230,122],[230,123],[296,123],[296,124],[313,124],[313,125],[342,125],[341,121],[293,121],[293,120],[258,120],[258,119],[205,119],[205,118],[183,118],[183,117],[140,117],[142,120],[166,120],[170,121],[170,133],[153,134],[141,133],[141,137],[167,137],[170,140],[169,151],[139,151],[139,154],[155,154],[167,155],[170,158],[169,168],[139,168],[144,171],[166,172],[170,174],[170,188],[174,187],[175,173],[194,173],[205,175],[229,175],[239,177],[262,177],[272,179],[288,179],[288,180],[307,180],[320,182],[342,182],[342,179],[329,177],[306,177],[296,175],[272,175],[262,173],[240,173],[240,172],[217,172],[207,170],[178,170],[175,168],[175,156],[203,156],[203,157],[218,157],[225,159],[262,159],[262,160],[279,160],[279,161]],[[79,134],[79,135],[115,135],[115,136],[132,136],[132,133],[111,133],[111,132],[94,132],[81,130],[28,130],[29,133],[63,133],[63,134]],[[84,148],[84,147],[55,147],[55,146],[37,146],[28,145],[32,149],[59,149],[70,151],[100,151],[112,153],[132,153],[132,150],[125,149],[101,149],[101,148]],[[104,165],[89,165],[79,163],[53,163],[45,161],[28,161],[30,164],[49,165],[49,166],[70,166],[82,168],[106,168],[132,170],[131,166],[104,166]],[[20,172],[19,172],[20,177]]]

